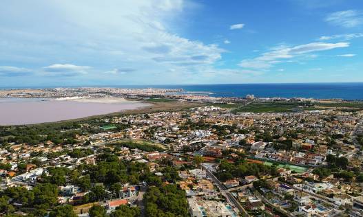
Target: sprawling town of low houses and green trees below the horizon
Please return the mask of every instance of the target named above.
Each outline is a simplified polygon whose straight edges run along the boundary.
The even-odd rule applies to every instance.
[[[1,126],[1,216],[363,215],[360,103],[121,92],[199,104]]]

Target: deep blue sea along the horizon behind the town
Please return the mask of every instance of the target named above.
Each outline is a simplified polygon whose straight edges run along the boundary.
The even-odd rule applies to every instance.
[[[99,87],[184,89],[184,91],[187,92],[208,92],[211,93],[211,96],[217,97],[245,97],[247,94],[253,94],[260,98],[280,97],[363,100],[363,82],[304,84],[119,85]]]

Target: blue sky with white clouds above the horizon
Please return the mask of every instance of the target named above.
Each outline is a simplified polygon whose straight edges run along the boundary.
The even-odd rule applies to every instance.
[[[363,82],[362,0],[2,0],[0,87]]]

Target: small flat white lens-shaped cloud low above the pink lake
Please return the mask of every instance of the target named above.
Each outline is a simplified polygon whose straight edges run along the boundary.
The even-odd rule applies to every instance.
[[[85,74],[87,73],[87,69],[91,68],[72,64],[53,64],[48,67],[43,67],[43,70],[54,74],[59,73],[63,76],[75,76],[76,74]]]

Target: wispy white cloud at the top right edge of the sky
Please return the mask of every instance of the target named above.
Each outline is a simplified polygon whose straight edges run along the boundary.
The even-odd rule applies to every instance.
[[[326,16],[325,21],[340,27],[356,27],[363,23],[363,13],[359,10],[342,10]]]

